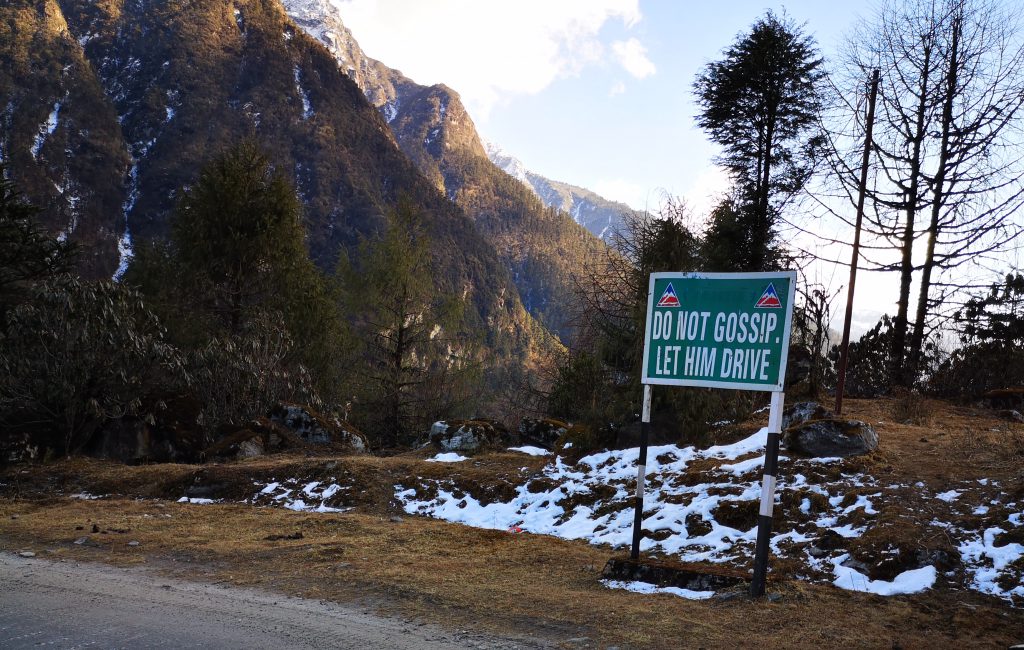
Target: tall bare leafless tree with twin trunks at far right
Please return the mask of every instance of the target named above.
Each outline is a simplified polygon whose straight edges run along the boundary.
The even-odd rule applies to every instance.
[[[1024,204],[1019,15],[1020,6],[994,0],[891,0],[859,26],[833,76],[831,169],[852,201],[859,88],[871,69],[882,72],[865,226],[874,245],[865,257],[899,272],[893,371],[904,382],[916,374],[930,318],[966,284],[951,271],[997,256],[1024,231],[1015,217]],[[896,261],[880,254],[892,249]]]

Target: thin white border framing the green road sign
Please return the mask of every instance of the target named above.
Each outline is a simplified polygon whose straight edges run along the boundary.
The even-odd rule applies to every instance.
[[[783,279],[790,280],[788,299],[785,309],[785,324],[782,326],[782,354],[778,365],[777,384],[748,384],[739,382],[713,382],[708,380],[689,379],[667,379],[649,377],[647,373],[648,359],[650,358],[650,328],[654,313],[654,281],[660,278],[681,278],[681,279]],[[640,375],[641,384],[654,386],[693,386],[696,388],[728,388],[734,390],[756,390],[761,392],[778,392],[785,386],[785,367],[790,360],[790,336],[793,329],[793,308],[794,299],[797,295],[797,271],[759,271],[752,273],[702,273],[700,271],[659,271],[650,274],[647,285],[647,314],[644,322],[643,334],[643,370]]]

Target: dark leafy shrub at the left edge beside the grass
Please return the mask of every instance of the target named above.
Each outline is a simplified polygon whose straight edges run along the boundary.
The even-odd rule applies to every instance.
[[[34,425],[71,454],[103,422],[152,420],[143,397],[186,381],[177,350],[138,293],[61,275],[8,311],[0,349],[0,426]]]

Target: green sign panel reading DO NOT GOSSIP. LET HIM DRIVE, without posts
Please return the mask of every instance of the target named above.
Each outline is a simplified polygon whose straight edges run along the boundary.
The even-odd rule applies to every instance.
[[[643,383],[781,391],[796,271],[651,273]]]

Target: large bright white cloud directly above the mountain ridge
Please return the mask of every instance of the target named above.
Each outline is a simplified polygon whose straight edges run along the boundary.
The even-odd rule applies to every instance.
[[[601,28],[630,28],[642,17],[639,0],[332,1],[368,55],[418,83],[451,86],[480,120],[502,100],[536,94],[604,60]],[[633,42],[646,60],[639,41],[626,41]],[[633,49],[631,64],[638,60]]]

